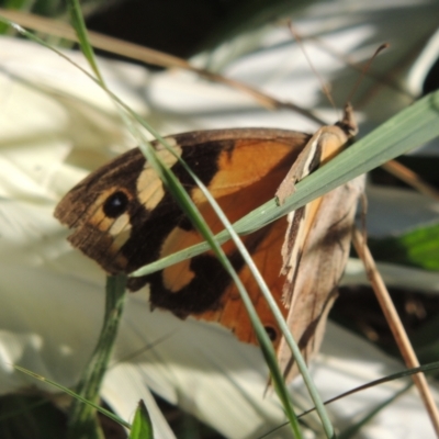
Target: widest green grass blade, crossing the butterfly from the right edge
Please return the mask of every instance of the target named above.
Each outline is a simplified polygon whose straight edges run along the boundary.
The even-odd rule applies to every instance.
[[[428,94],[403,110],[372,133],[358,140],[324,167],[297,183],[295,193],[279,207],[274,199],[264,203],[234,224],[238,234],[251,233],[266,224],[322,196],[338,185],[368,172],[407,150],[417,148],[439,136],[439,91]],[[219,243],[229,239],[226,230],[216,235]],[[205,243],[155,261],[132,273],[146,275],[206,251]]]

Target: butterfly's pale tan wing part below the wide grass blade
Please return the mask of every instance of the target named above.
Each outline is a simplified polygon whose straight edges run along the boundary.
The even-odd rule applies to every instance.
[[[300,269],[294,282],[285,281],[283,294],[291,296],[286,323],[308,362],[318,350],[327,315],[349,256],[352,223],[364,178],[359,177],[330,192],[319,209],[301,251]],[[296,369],[284,340],[278,351],[285,376]]]

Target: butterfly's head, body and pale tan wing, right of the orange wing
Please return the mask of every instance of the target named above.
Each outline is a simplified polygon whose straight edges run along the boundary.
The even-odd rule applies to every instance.
[[[357,124],[348,104],[340,123],[322,127],[304,147],[277,191],[279,202],[294,192],[297,181],[346,148],[356,133]],[[289,307],[288,326],[307,362],[319,348],[327,315],[337,296],[363,187],[364,178],[359,177],[288,215],[282,246],[282,301]],[[278,359],[285,376],[296,374],[284,339]]]

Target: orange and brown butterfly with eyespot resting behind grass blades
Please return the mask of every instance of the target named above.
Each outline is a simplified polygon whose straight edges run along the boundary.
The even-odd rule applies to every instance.
[[[207,187],[233,223],[294,184],[344,149],[357,131],[347,108],[336,125],[309,134],[272,128],[199,131],[166,137]],[[154,143],[214,233],[224,227],[212,206],[168,149]],[[318,349],[328,311],[345,269],[362,180],[346,183],[243,241],[262,273],[306,360]],[[110,274],[136,269],[203,241],[138,148],[116,157],[71,189],[55,216],[74,232],[69,241]],[[232,241],[223,248],[246,286],[285,375],[295,371],[279,327]],[[281,273],[280,273],[281,272]],[[240,295],[212,251],[161,271],[130,278],[147,285],[151,308],[180,318],[217,322],[256,344]]]

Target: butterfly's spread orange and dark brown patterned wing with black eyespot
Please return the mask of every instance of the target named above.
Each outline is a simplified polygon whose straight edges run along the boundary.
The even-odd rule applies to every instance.
[[[303,133],[255,128],[187,133],[167,138],[207,185],[232,222],[272,199],[308,139]],[[164,147],[156,144],[156,148],[213,232],[223,229],[181,165]],[[75,228],[69,237],[72,245],[112,274],[130,273],[202,240],[138,149],[87,177],[61,200],[55,216]],[[283,284],[279,267],[284,233],[284,221],[278,221],[243,237],[278,301]],[[273,317],[241,256],[230,241],[224,249],[239,271],[273,341],[279,344]],[[211,252],[130,280],[133,291],[145,284],[149,285],[153,307],[167,308],[179,317],[193,315],[217,320],[243,341],[256,341],[238,292]]]

